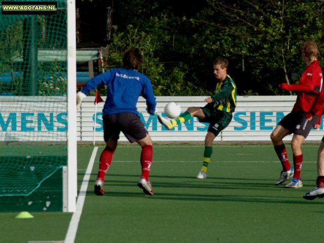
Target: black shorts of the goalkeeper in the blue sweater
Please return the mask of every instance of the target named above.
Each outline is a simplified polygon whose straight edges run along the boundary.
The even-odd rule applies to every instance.
[[[102,119],[105,142],[117,141],[120,131],[131,143],[145,138],[148,134],[140,117],[132,112],[103,115]]]

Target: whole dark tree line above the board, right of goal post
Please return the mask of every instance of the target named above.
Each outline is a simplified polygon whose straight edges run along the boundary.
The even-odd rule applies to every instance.
[[[209,95],[215,82],[212,63],[218,57],[229,59],[238,95],[287,94],[277,87],[298,82],[305,68],[301,43],[314,39],[324,52],[324,1],[93,2],[97,8],[99,3],[112,7],[109,65],[120,65],[124,51],[136,45],[156,95]],[[321,56],[320,61],[324,63]]]

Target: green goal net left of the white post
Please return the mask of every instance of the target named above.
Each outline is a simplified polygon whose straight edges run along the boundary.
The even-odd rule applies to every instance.
[[[55,2],[0,15],[0,196],[28,196],[67,165],[67,2]]]

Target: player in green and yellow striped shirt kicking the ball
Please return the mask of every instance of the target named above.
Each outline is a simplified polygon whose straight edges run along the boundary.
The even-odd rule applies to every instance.
[[[205,138],[203,166],[197,175],[198,179],[207,178],[207,168],[213,153],[213,141],[228,126],[236,107],[236,85],[227,74],[227,68],[228,61],[226,59],[217,59],[214,62],[214,74],[219,82],[211,97],[205,99],[207,105],[204,107],[189,107],[175,119],[157,115],[159,122],[168,130],[184,123],[192,116],[198,117],[200,122],[210,124]]]

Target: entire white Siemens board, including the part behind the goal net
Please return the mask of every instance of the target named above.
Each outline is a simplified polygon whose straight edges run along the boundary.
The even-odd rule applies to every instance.
[[[105,100],[105,97],[102,97]],[[156,97],[159,113],[164,113],[167,103],[177,102],[182,111],[190,106],[204,106],[206,97]],[[95,97],[86,97],[77,112],[77,141],[103,142],[102,108]],[[270,134],[279,120],[288,114],[296,96],[238,96],[236,110],[229,126],[216,138],[217,141],[270,141]],[[173,130],[166,130],[157,121],[156,115],[146,112],[145,100],[140,97],[138,111],[153,141],[203,142],[208,124],[193,117]],[[11,97],[0,96],[0,141],[66,141],[66,97]],[[95,130],[95,131],[94,131]],[[95,133],[94,133],[95,132]],[[320,141],[323,123],[312,130],[307,141]],[[285,140],[291,140],[291,135]],[[128,141],[120,134],[119,141]]]

